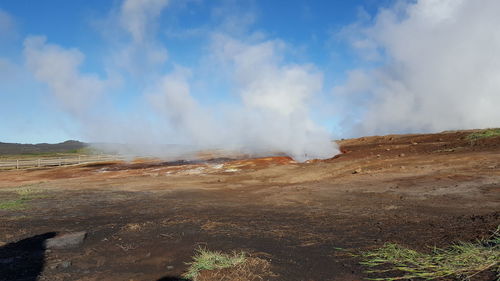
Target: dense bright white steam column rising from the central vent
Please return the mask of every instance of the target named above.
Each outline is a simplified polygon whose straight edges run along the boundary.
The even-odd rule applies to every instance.
[[[309,117],[312,99],[322,90],[322,74],[311,65],[285,64],[279,40],[245,43],[216,34],[215,56],[229,65],[243,108],[234,117],[244,125],[237,140],[262,153],[285,152],[303,161],[329,158],[339,151],[330,135]]]

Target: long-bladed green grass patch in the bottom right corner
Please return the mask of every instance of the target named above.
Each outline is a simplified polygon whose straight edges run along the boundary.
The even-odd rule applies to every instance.
[[[470,280],[486,270],[495,271],[500,280],[500,225],[488,240],[459,243],[445,249],[434,248],[430,254],[388,243],[362,253],[361,258],[362,265],[372,268],[368,273],[402,274],[370,280],[435,280],[445,277]],[[378,269],[380,266],[386,269]]]

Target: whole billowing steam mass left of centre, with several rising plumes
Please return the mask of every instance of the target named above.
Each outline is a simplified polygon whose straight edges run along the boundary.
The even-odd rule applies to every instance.
[[[244,24],[238,28],[238,38],[228,35],[229,31],[210,33],[210,46],[204,49],[202,60],[212,61],[219,69],[213,77],[234,86],[231,94],[236,103],[199,100],[192,92],[197,69],[177,65],[175,58],[169,58],[173,70],[162,70],[167,49],[155,38],[155,31],[167,6],[167,0],[125,0],[118,15],[111,15],[127,40],[114,46],[106,70],[123,75],[122,80],[146,82],[137,83],[135,111],[125,118],[113,108],[104,115],[92,109],[94,102],[105,99],[112,83],[79,71],[84,59],[80,51],[49,44],[44,37],[26,38],[29,69],[49,86],[62,108],[80,121],[90,141],[127,143],[131,144],[124,146],[128,152],[168,157],[182,156],[187,148],[254,156],[284,153],[298,161],[339,153],[330,134],[310,117],[311,104],[323,91],[323,74],[313,65],[285,63],[289,46],[283,41],[245,36]]]

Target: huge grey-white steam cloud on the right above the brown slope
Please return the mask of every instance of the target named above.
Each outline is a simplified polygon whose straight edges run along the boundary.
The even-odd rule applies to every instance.
[[[497,0],[399,1],[345,28],[374,66],[334,88],[344,126],[356,135],[498,126],[498,11]]]

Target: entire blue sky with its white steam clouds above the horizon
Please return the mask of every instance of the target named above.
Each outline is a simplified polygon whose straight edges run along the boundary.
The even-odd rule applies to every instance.
[[[303,133],[282,132],[287,138],[314,143],[306,136],[494,126],[491,87],[441,83],[458,75],[494,89],[496,61],[486,76],[430,66],[450,69],[446,54],[465,54],[463,65],[477,72],[482,58],[473,54],[484,44],[474,42],[493,40],[497,52],[488,11],[497,3],[0,1],[0,141],[132,135],[225,145],[223,135],[234,145],[290,127]],[[470,36],[478,38],[462,50],[446,45]],[[444,113],[433,107],[464,87],[483,95],[473,112],[461,102]],[[476,102],[467,93],[457,100]],[[208,128],[217,137],[201,133]]]

